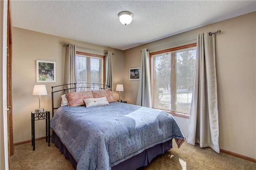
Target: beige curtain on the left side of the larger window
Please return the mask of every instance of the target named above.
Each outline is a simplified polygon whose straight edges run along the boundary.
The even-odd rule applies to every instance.
[[[136,105],[152,108],[149,60],[149,50],[142,49],[140,66],[140,87],[138,90]]]

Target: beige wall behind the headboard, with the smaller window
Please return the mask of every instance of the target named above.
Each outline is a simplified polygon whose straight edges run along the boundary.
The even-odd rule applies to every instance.
[[[78,47],[98,51],[112,51],[113,55],[113,81],[123,83],[124,52],[109,47],[103,47],[63,37],[57,37],[26,29],[13,27],[13,131],[14,143],[31,140],[31,111],[38,108],[38,96],[32,96],[35,84],[46,84],[47,96],[41,96],[41,107],[51,109],[51,86],[64,82],[64,65],[66,47],[64,43],[73,43]],[[79,49],[77,51],[98,53],[95,51]],[[36,83],[36,60],[56,62],[56,83]],[[115,88],[114,88],[115,89]],[[118,99],[118,92],[114,91]],[[36,138],[45,136],[45,121],[35,122]]]

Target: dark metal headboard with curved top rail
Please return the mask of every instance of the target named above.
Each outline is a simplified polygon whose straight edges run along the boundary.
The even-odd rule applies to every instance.
[[[65,88],[71,86],[72,88]],[[58,90],[54,90],[54,89]],[[62,88],[61,90],[59,88]],[[74,89],[74,92],[81,92],[86,91],[88,89],[90,90],[104,90],[110,88],[110,86],[107,86],[105,84],[98,84],[98,83],[70,83],[70,84],[62,84],[59,86],[52,86],[52,116],[54,115],[54,110],[58,109],[59,107],[54,107],[54,93],[56,92],[63,92],[63,94],[66,94],[68,90]]]

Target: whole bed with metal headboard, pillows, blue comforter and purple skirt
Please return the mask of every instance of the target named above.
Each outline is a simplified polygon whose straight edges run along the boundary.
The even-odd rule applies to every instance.
[[[172,115],[116,102],[111,90],[102,84],[73,85],[73,88],[61,90],[54,88],[66,85],[52,87],[50,127],[52,142],[70,158],[76,169],[135,170],[170,150],[172,139],[178,148],[184,142],[182,131]],[[54,94],[66,93],[68,89],[76,91],[62,95],[68,105],[54,107]],[[81,97],[81,94],[86,96]],[[76,102],[80,106],[76,106]]]

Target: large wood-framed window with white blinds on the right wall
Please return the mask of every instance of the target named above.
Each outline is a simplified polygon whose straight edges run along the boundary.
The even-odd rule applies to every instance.
[[[196,43],[150,53],[150,57],[153,107],[175,115],[189,115]]]

